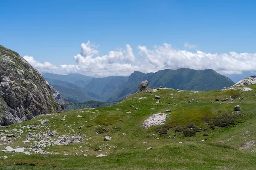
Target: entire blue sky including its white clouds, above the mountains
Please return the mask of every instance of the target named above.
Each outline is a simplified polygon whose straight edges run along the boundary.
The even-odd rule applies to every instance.
[[[17,51],[21,56],[33,57],[27,60],[35,68],[38,67],[39,71],[49,69],[58,74],[78,72],[96,77],[111,74],[128,75],[134,69],[140,69],[138,64],[131,63],[134,62],[132,59],[127,60],[131,55],[125,55],[129,51],[126,45],[132,49],[135,61],[148,62],[151,68],[155,67],[142,69],[143,72],[157,71],[157,68],[177,69],[190,66],[177,63],[182,61],[172,57],[169,57],[170,61],[167,65],[154,62],[152,60],[154,57],[151,56],[157,55],[154,45],[159,47],[158,51],[162,49],[160,47],[165,48],[164,43],[171,45],[171,52],[166,52],[166,55],[175,51],[192,53],[202,51],[204,54],[217,53],[221,56],[234,51],[241,60],[247,59],[243,63],[244,69],[236,71],[234,68],[223,68],[223,66],[212,66],[212,68],[230,77],[236,77],[233,74],[235,72],[245,76],[253,74],[252,71],[256,70],[245,67],[250,63],[248,60],[252,60],[251,63],[256,60],[255,6],[254,1],[236,0],[225,2],[218,0],[3,1],[0,10],[0,45]],[[92,56],[84,53],[81,57],[75,58],[74,56],[85,50],[81,48],[81,44],[86,44],[88,40],[90,43],[87,47],[97,52]],[[146,53],[139,46],[145,46],[147,50],[151,50],[151,53]],[[109,59],[109,51],[122,51],[123,54],[120,57],[119,54],[114,53],[114,59]],[[240,53],[251,55],[243,58]],[[108,55],[104,60],[108,60],[106,65],[103,59],[92,60],[97,56],[105,55]],[[166,55],[163,58],[168,60]],[[231,56],[233,55],[230,54]],[[92,59],[89,61],[88,57]],[[156,58],[161,59],[161,56]],[[172,60],[178,66],[172,65]],[[227,64],[237,64],[239,61],[227,62]],[[93,68],[88,68],[88,65],[99,62],[104,68],[99,66],[94,72]],[[114,63],[119,65],[113,65]],[[203,62],[201,66],[194,68],[204,68],[202,64]],[[208,64],[207,66],[211,67],[212,64]],[[66,70],[58,69],[59,65],[74,65],[79,71],[67,67]],[[53,66],[55,67],[52,68]],[[108,70],[110,67],[111,69]],[[113,73],[115,68],[117,71]],[[103,74],[101,71],[108,74]]]

